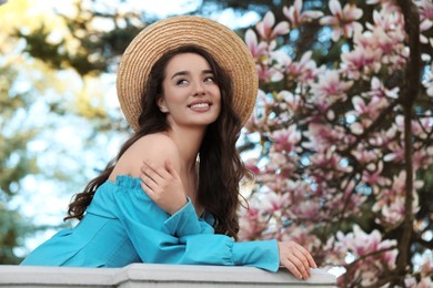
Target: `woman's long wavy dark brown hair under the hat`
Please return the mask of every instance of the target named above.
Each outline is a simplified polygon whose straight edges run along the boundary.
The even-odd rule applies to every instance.
[[[135,141],[144,135],[168,131],[165,114],[159,110],[157,103],[163,92],[165,68],[169,61],[180,53],[197,53],[203,56],[211,65],[221,91],[221,113],[216,121],[208,126],[199,152],[198,200],[215,217],[215,233],[238,239],[239,185],[243,177],[251,176],[235,146],[242,128],[241,121],[232,107],[230,78],[207,51],[192,45],[165,53],[154,64],[141,97],[143,110],[139,117],[140,128],[122,145],[117,157],[108,163],[104,171],[90,181],[83,192],[75,195],[64,219],[82,219],[98,187],[109,178],[115,163]]]

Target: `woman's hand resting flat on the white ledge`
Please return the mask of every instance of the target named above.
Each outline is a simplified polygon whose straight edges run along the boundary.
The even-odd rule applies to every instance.
[[[298,279],[308,279],[310,268],[318,268],[313,257],[294,241],[279,241],[280,265],[288,268]]]

